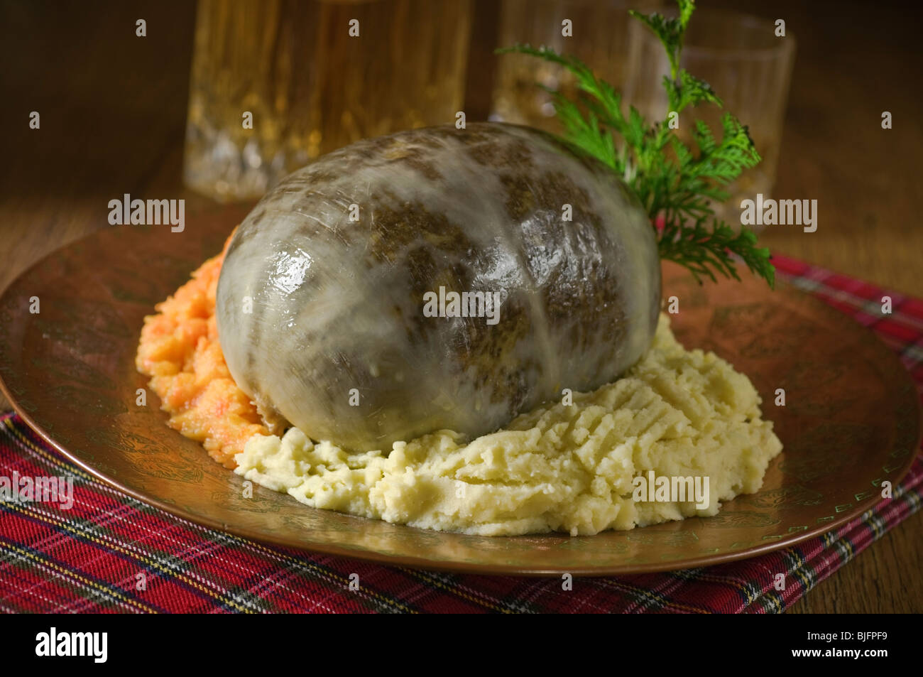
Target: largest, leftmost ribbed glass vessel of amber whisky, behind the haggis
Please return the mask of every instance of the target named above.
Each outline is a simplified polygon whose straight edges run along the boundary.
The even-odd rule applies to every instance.
[[[186,185],[262,195],[318,155],[455,121],[470,0],[199,0]]]

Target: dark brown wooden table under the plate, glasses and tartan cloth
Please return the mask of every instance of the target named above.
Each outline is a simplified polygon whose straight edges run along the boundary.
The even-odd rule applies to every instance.
[[[923,296],[919,7],[701,5],[785,18],[797,35],[775,192],[818,199],[820,220],[812,234],[770,226],[763,242]],[[185,198],[187,219],[218,208],[179,181],[194,6],[91,7],[0,3],[0,286],[52,249],[107,227],[107,202],[123,193]],[[137,18],[147,20],[147,38],[135,36]],[[473,74],[469,88],[481,77]],[[881,129],[885,110],[893,114],[891,130]],[[41,129],[29,128],[30,111],[40,112]],[[791,612],[923,611],[921,536],[917,514]]]

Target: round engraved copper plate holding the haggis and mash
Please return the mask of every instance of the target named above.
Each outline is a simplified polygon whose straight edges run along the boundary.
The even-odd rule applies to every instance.
[[[290,548],[480,574],[629,574],[728,562],[829,531],[881,500],[920,436],[916,387],[868,330],[820,301],[747,277],[695,284],[665,267],[674,329],[749,375],[785,448],[762,490],[720,514],[593,537],[482,538],[307,508],[257,487],[167,428],[135,371],[141,320],[217,253],[240,213],[107,228],[32,266],[0,298],[0,377],[17,411],[114,487],[199,524]],[[30,313],[30,297],[40,310]],[[773,404],[785,389],[785,406]]]

